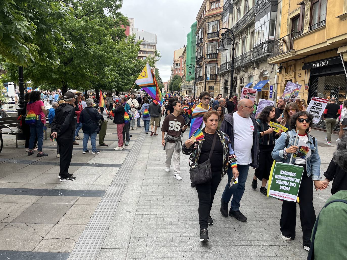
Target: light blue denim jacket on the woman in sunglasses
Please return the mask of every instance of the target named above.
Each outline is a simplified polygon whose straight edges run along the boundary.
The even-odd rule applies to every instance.
[[[287,133],[289,133],[289,143],[288,146],[286,145],[287,140]],[[294,140],[296,136],[295,129],[292,129],[288,131],[287,133],[282,133],[280,138],[277,139],[276,145],[272,150],[272,158],[276,161],[282,162],[282,163],[289,163],[291,154],[287,154],[287,156],[284,156],[284,148],[288,148],[292,145],[294,145]],[[315,140],[315,145],[313,145],[313,139],[315,137],[312,137],[310,134],[307,133],[308,136],[308,142],[307,144],[310,145],[311,149],[311,155],[310,157],[306,158],[306,172],[307,176],[310,176],[312,174],[312,180],[320,180],[322,177],[320,176],[320,167],[321,167],[321,158],[318,154],[318,141]],[[293,158],[294,162],[295,159]]]

